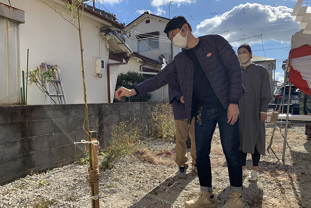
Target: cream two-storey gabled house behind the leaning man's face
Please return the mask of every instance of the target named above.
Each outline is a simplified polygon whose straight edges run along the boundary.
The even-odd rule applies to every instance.
[[[167,61],[173,60],[179,49],[163,32],[169,20],[146,11],[127,25],[124,30],[135,33],[127,42],[135,52],[128,65],[120,66],[119,72],[131,70],[150,78],[161,70],[163,58]],[[151,92],[151,95],[149,101],[168,101],[168,85]]]

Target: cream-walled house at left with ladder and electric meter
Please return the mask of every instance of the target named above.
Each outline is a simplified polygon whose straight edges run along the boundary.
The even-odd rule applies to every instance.
[[[0,46],[5,48],[0,52],[0,73],[5,75],[0,78],[0,104],[21,104],[21,70],[26,71],[27,48],[29,70],[41,63],[58,65],[67,104],[84,103],[78,30],[52,9],[56,6],[59,13],[71,17],[62,0],[42,1],[10,0],[9,5],[0,0]],[[119,64],[127,64],[132,54],[120,33],[123,29],[114,15],[85,5],[82,36],[88,103],[113,100]],[[102,63],[102,74],[95,73],[95,60]],[[28,86],[27,95],[28,104],[48,104],[35,85]]]

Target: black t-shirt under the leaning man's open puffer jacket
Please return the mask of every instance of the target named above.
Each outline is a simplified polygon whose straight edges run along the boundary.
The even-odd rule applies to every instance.
[[[186,51],[186,56],[193,61],[194,73],[193,73],[193,93],[192,93],[192,106],[194,108],[203,106],[207,108],[220,106],[221,103],[217,98],[211,83],[208,80],[202,66],[197,59],[196,51],[201,45],[201,40],[199,43]]]

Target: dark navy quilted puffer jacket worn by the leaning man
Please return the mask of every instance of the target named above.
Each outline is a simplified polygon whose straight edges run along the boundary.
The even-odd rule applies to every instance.
[[[238,104],[245,93],[238,57],[229,42],[220,35],[199,38],[201,45],[195,51],[197,58],[220,103],[228,109],[230,103]],[[185,50],[177,54],[156,76],[139,83],[134,89],[137,94],[145,94],[159,89],[176,77],[183,91],[187,117],[191,122],[193,61],[187,58]]]

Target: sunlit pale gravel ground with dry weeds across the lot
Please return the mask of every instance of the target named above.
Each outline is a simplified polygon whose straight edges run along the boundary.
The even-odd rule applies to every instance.
[[[272,127],[268,125],[266,129],[268,144]],[[277,128],[272,145],[279,159],[283,134],[284,128],[282,133]],[[174,142],[146,139],[143,143],[149,152],[144,149],[133,153],[114,164],[112,170],[100,170],[100,207],[178,208],[199,196],[197,174],[190,168],[186,179],[176,177]],[[212,140],[211,165],[217,207],[221,207],[229,199],[230,184],[217,129]],[[91,207],[90,200],[82,199],[88,192],[87,167],[71,164],[0,186],[0,207]],[[248,155],[247,169],[251,167]],[[245,207],[311,207],[310,167],[311,140],[304,135],[304,127],[289,128],[285,162],[279,162],[272,153],[266,154],[259,164],[258,181],[244,180]]]

